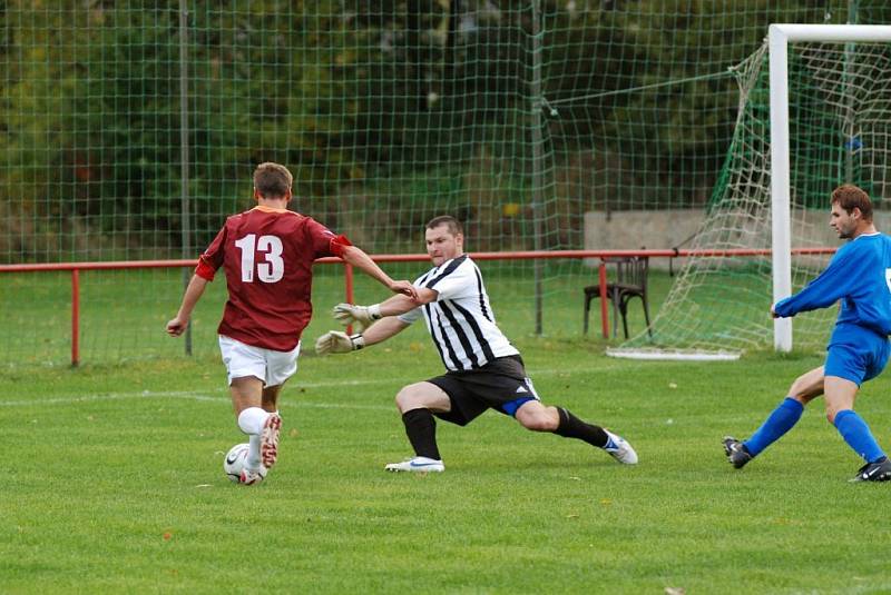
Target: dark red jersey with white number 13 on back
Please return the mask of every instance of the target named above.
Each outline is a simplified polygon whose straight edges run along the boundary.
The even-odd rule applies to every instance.
[[[218,333],[247,345],[290,351],[313,314],[313,260],[333,256],[325,226],[285,209],[233,215],[200,256],[195,274],[226,272],[229,298]]]

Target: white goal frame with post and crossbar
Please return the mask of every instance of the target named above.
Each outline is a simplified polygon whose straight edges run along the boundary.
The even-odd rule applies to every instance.
[[[771,83],[771,209],[773,301],[792,294],[792,230],[790,215],[789,58],[790,42],[889,42],[891,26],[789,24],[768,28]],[[792,319],[774,320],[774,349],[792,349]]]

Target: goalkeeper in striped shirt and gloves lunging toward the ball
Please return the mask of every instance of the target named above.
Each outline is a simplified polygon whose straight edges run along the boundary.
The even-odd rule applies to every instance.
[[[427,251],[433,268],[414,281],[418,299],[392,296],[374,306],[341,304],[334,316],[364,331],[322,335],[319,354],[346,353],[381,343],[423,317],[448,371],[403,387],[396,395],[414,456],[384,468],[391,472],[442,472],[435,419],[464,426],[487,409],[517,419],[525,428],[577,438],[634,465],[637,454],[621,437],[587,424],[564,408],[541,403],[519,351],[495,323],[480,270],[463,252],[461,224],[437,217],[427,224]],[[420,303],[420,306],[419,306]]]

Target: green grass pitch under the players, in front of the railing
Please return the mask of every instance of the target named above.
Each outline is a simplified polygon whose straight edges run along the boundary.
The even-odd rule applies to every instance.
[[[520,337],[542,398],[621,433],[617,465],[488,413],[439,424],[442,475],[389,475],[409,454],[392,405],[440,373],[420,328],[392,345],[306,355],[282,396],[278,465],[223,475],[243,440],[213,355],[0,373],[7,458],[3,593],[881,593],[888,486],[820,404],[741,472],[746,435],[811,356],[636,363],[601,345]],[[891,444],[889,383],[859,409]]]

